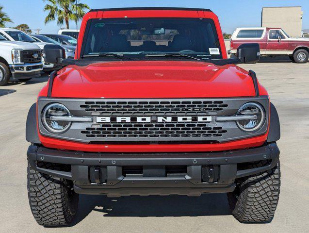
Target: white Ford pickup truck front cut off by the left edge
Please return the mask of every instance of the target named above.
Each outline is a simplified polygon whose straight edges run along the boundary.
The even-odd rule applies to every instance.
[[[33,43],[9,41],[0,35],[0,86],[12,80],[27,81],[41,76],[42,52]]]

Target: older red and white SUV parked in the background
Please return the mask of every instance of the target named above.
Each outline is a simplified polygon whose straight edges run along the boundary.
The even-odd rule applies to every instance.
[[[296,63],[306,63],[309,59],[309,38],[290,37],[281,28],[237,28],[230,40],[231,56],[244,43],[258,43],[261,55],[289,55]]]

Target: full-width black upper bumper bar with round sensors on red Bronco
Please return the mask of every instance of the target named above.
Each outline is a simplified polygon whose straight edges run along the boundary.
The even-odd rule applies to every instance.
[[[30,146],[29,158],[59,164],[88,166],[223,165],[278,157],[276,144],[246,150],[200,153],[88,153]]]

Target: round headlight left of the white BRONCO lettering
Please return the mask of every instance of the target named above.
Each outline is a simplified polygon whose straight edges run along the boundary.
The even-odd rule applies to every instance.
[[[60,103],[49,104],[43,111],[42,120],[45,128],[52,133],[65,132],[71,126],[71,122],[54,120],[51,119],[52,116],[70,116],[70,112],[65,105]]]

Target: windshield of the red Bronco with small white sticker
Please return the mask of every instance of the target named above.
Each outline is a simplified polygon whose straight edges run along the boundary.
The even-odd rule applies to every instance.
[[[222,58],[214,22],[208,18],[92,19],[87,30],[82,51],[85,57],[117,53],[158,59],[156,54],[181,53],[206,60]],[[154,56],[146,56],[149,54]],[[100,57],[110,58],[113,57]]]

